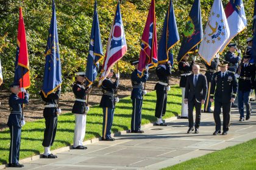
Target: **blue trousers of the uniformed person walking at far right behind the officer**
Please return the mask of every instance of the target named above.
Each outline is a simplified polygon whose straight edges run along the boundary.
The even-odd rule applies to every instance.
[[[243,92],[238,90],[238,109],[240,113],[240,118],[244,118],[244,104],[246,106],[246,117],[251,115],[251,103],[249,103],[250,91]]]

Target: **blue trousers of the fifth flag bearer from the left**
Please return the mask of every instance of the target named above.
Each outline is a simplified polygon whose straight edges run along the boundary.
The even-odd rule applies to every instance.
[[[132,121],[130,127],[132,131],[140,131],[142,101],[142,99],[132,98]]]

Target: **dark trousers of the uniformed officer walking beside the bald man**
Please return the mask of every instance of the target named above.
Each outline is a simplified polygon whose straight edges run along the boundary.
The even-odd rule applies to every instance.
[[[221,106],[222,106],[222,114],[223,114],[223,131],[229,131],[230,126],[230,108],[231,108],[231,102],[229,103],[221,103],[219,101],[215,100],[214,103],[214,120],[215,120],[215,130],[220,131],[221,130],[221,117],[219,116],[221,114]]]

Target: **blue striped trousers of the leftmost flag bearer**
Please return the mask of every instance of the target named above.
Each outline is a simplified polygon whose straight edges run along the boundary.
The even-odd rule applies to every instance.
[[[10,126],[10,152],[9,163],[19,163],[21,146],[21,127]]]

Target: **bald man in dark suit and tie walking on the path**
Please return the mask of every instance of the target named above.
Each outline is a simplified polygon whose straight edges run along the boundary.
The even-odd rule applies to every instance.
[[[201,120],[201,106],[205,103],[207,94],[207,80],[205,75],[200,73],[200,66],[195,64],[193,66],[193,74],[188,76],[186,88],[185,88],[185,99],[184,103],[188,103],[188,123],[189,129],[188,134],[194,131],[195,134],[199,133],[199,126]],[[196,107],[196,124],[193,127],[193,110]]]

